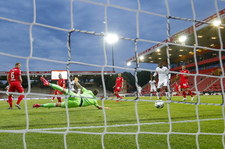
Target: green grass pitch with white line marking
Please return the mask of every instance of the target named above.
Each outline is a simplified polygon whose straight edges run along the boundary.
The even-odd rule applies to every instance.
[[[181,99],[172,98],[174,101]],[[111,108],[105,111],[104,121],[104,112],[93,106],[69,109],[68,120],[64,108],[32,108],[35,103],[48,102],[50,100],[47,99],[27,100],[26,117],[24,101],[21,103],[22,110],[16,107],[9,110],[8,103],[1,101],[0,148],[23,149],[26,145],[28,149],[99,149],[104,145],[106,149],[135,149],[138,144],[141,149],[164,149],[168,148],[168,140],[172,149],[192,149],[197,146],[201,149],[223,148],[224,140],[220,135],[224,133],[222,106],[165,103],[164,108],[157,109],[153,102],[109,100],[104,102],[105,106]],[[218,95],[201,96],[201,103],[218,104],[222,103],[222,98]],[[196,113],[201,120],[199,123]],[[171,117],[171,123],[168,116]],[[136,125],[138,122],[139,126]],[[114,127],[105,128],[104,125]],[[69,131],[66,131],[67,126],[71,127]],[[44,132],[36,129],[43,129]],[[198,131],[205,134],[198,135]]]

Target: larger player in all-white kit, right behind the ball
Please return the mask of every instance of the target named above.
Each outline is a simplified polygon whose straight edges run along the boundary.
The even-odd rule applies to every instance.
[[[166,91],[166,97],[167,99],[170,99],[169,94],[169,69],[162,64],[159,64],[158,67],[155,70],[155,73],[153,77],[156,77],[158,75],[158,85],[157,85],[157,97],[158,99],[161,99],[160,97],[160,89],[164,89]]]

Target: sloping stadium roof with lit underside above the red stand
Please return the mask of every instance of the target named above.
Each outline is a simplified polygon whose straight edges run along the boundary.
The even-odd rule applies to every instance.
[[[225,9],[219,11],[219,18],[221,20],[220,35],[222,41],[225,41]],[[218,20],[217,14],[198,21],[195,24],[195,29],[193,26],[182,30],[175,35],[170,37],[170,42],[164,40],[153,47],[144,50],[138,54],[138,57],[144,57],[143,60],[139,59],[140,63],[160,63],[167,61],[167,49],[170,56],[170,63],[176,64],[182,62],[183,60],[194,57],[194,47],[196,47],[196,52],[201,55],[201,53],[206,53],[207,51],[213,51],[215,49],[220,49],[220,38],[218,27],[213,25],[213,21]],[[196,30],[196,36],[195,32]],[[185,35],[187,41],[184,43],[179,42],[179,37]],[[195,44],[195,40],[198,41],[198,46]],[[127,62],[135,62],[136,57],[132,57],[127,60]]]

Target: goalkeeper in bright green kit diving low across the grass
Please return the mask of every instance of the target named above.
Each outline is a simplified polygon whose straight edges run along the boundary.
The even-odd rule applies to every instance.
[[[96,98],[96,95],[98,94],[98,90],[87,90],[83,86],[79,84],[78,78],[75,78],[75,85],[81,89],[83,94],[76,94],[72,91],[69,91],[68,89],[65,89],[59,85],[49,83],[44,77],[41,77],[40,80],[43,82],[45,86],[50,86],[55,90],[58,90],[62,92],[64,95],[69,95],[68,97],[68,108],[76,108],[76,107],[85,107],[85,106],[90,106],[94,105],[98,109],[103,109],[102,106],[98,105]],[[61,102],[61,103],[46,103],[46,104],[34,104],[33,108],[39,108],[39,107],[44,107],[44,108],[51,108],[51,107],[66,107],[66,102]],[[108,107],[104,107],[105,109],[109,109]]]

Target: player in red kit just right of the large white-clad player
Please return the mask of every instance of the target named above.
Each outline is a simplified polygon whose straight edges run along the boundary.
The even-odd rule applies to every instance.
[[[187,74],[190,73],[189,70],[186,69],[185,65],[182,65],[181,69],[182,69],[182,70],[180,70],[181,73],[187,73]],[[181,89],[181,93],[184,97],[183,101],[187,100],[186,91],[188,91],[189,95],[191,96],[191,100],[194,100],[194,96],[193,96],[193,94],[190,90],[190,86],[188,84],[188,76],[185,74],[179,74],[179,76],[180,76],[180,89]]]

